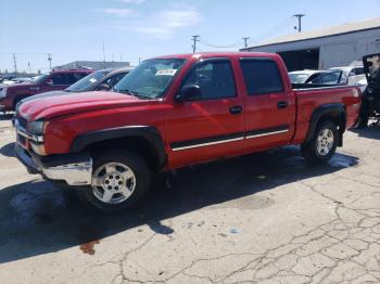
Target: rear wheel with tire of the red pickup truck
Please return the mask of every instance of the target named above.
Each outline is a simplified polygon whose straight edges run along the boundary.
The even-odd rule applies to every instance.
[[[335,154],[338,126],[325,120],[318,124],[312,140],[301,145],[304,158],[311,164],[325,164]]]

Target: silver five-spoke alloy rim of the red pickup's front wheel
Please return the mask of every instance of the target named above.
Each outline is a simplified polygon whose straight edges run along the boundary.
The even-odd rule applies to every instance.
[[[124,164],[106,163],[93,172],[91,188],[93,195],[103,203],[123,203],[136,189],[135,172]]]

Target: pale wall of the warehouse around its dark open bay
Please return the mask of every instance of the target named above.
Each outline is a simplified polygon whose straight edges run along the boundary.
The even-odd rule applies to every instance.
[[[346,35],[294,41],[266,47],[248,48],[246,51],[283,52],[319,49],[319,68],[346,66],[364,55],[380,53],[380,28]]]

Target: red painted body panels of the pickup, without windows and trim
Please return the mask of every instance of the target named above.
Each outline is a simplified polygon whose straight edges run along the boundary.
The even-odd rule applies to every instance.
[[[183,77],[200,60],[226,57],[231,62],[237,96],[197,102],[177,103],[174,98]],[[241,57],[274,60],[283,81],[281,93],[251,96],[246,94]],[[78,93],[51,96],[22,104],[20,115],[29,120],[46,119],[45,143],[48,154],[69,152],[73,140],[86,132],[124,126],[154,126],[161,133],[167,154],[167,168],[203,163],[219,157],[252,153],[270,147],[299,144],[306,137],[313,112],[324,104],[343,103],[347,111],[347,127],[357,119],[360,103],[354,96],[356,88],[334,88],[293,91],[287,68],[276,54],[266,53],[200,53],[162,56],[160,59],[186,59],[166,95],[157,100],[140,100],[112,92]],[[286,101],[287,108],[277,103]],[[229,108],[242,105],[243,113],[231,115]],[[288,132],[233,140],[228,143],[204,145],[174,151],[173,143],[207,139],[212,137],[244,133],[245,131],[289,126]]]

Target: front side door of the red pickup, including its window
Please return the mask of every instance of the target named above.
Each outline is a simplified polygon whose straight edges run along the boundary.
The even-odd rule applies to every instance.
[[[242,151],[243,101],[237,92],[231,62],[211,59],[195,63],[182,80],[179,92],[189,86],[198,86],[201,98],[175,102],[167,113],[170,167]]]

